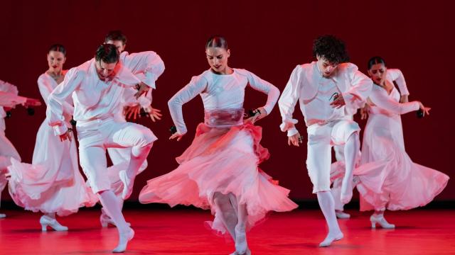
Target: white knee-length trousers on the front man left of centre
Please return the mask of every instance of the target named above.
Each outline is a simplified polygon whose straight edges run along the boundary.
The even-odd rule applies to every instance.
[[[114,118],[77,122],[79,158],[82,171],[94,193],[111,189],[107,173],[107,148],[144,147],[157,140],[149,128]]]

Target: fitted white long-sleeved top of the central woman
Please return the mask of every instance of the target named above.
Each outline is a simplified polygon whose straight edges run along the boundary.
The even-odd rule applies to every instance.
[[[173,123],[180,134],[187,132],[182,106],[198,94],[202,98],[205,111],[238,109],[243,108],[245,88],[250,84],[253,89],[267,94],[267,103],[263,107],[268,114],[272,111],[279,97],[279,89],[245,69],[232,70],[232,74],[220,75],[209,69],[193,77],[189,84],[168,101]]]

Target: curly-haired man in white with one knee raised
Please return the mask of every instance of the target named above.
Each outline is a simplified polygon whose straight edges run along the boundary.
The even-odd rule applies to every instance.
[[[331,147],[343,145],[346,174],[341,186],[341,202],[352,197],[351,180],[355,156],[360,148],[358,124],[353,114],[365,102],[372,81],[348,63],[344,43],[332,35],[323,35],[314,41],[316,62],[298,65],[279,99],[282,131],[287,131],[288,145],[299,146],[303,138],[292,118],[294,107],[300,101],[308,132],[306,167],[328,225],[326,239],[319,246],[329,246],[343,238],[336,220],[333,196],[330,192]]]

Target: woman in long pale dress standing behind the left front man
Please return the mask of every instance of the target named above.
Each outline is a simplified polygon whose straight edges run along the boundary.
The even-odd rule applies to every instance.
[[[45,103],[65,77],[65,47],[50,46],[47,60],[49,68],[38,78],[38,89]],[[65,127],[70,128],[74,110],[71,98],[63,102],[63,109]],[[43,212],[39,221],[42,231],[48,227],[56,231],[68,230],[55,219],[55,214],[70,215],[82,206],[95,205],[97,201],[80,174],[75,141],[60,142],[53,135],[48,119],[41,123],[36,134],[32,164],[21,163],[20,159],[11,159],[11,163],[8,167],[11,198],[26,210]]]

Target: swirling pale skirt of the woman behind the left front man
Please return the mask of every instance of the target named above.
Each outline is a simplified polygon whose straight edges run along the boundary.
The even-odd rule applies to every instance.
[[[80,174],[75,141],[60,142],[47,121],[36,135],[32,162],[11,159],[8,167],[9,193],[17,205],[33,212],[56,212],[63,216],[97,202]]]

